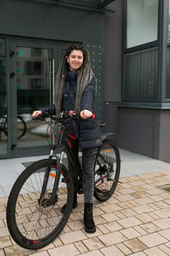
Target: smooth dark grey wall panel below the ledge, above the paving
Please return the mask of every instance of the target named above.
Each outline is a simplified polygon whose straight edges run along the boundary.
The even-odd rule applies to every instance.
[[[120,148],[153,157],[154,111],[120,108],[118,115]]]

